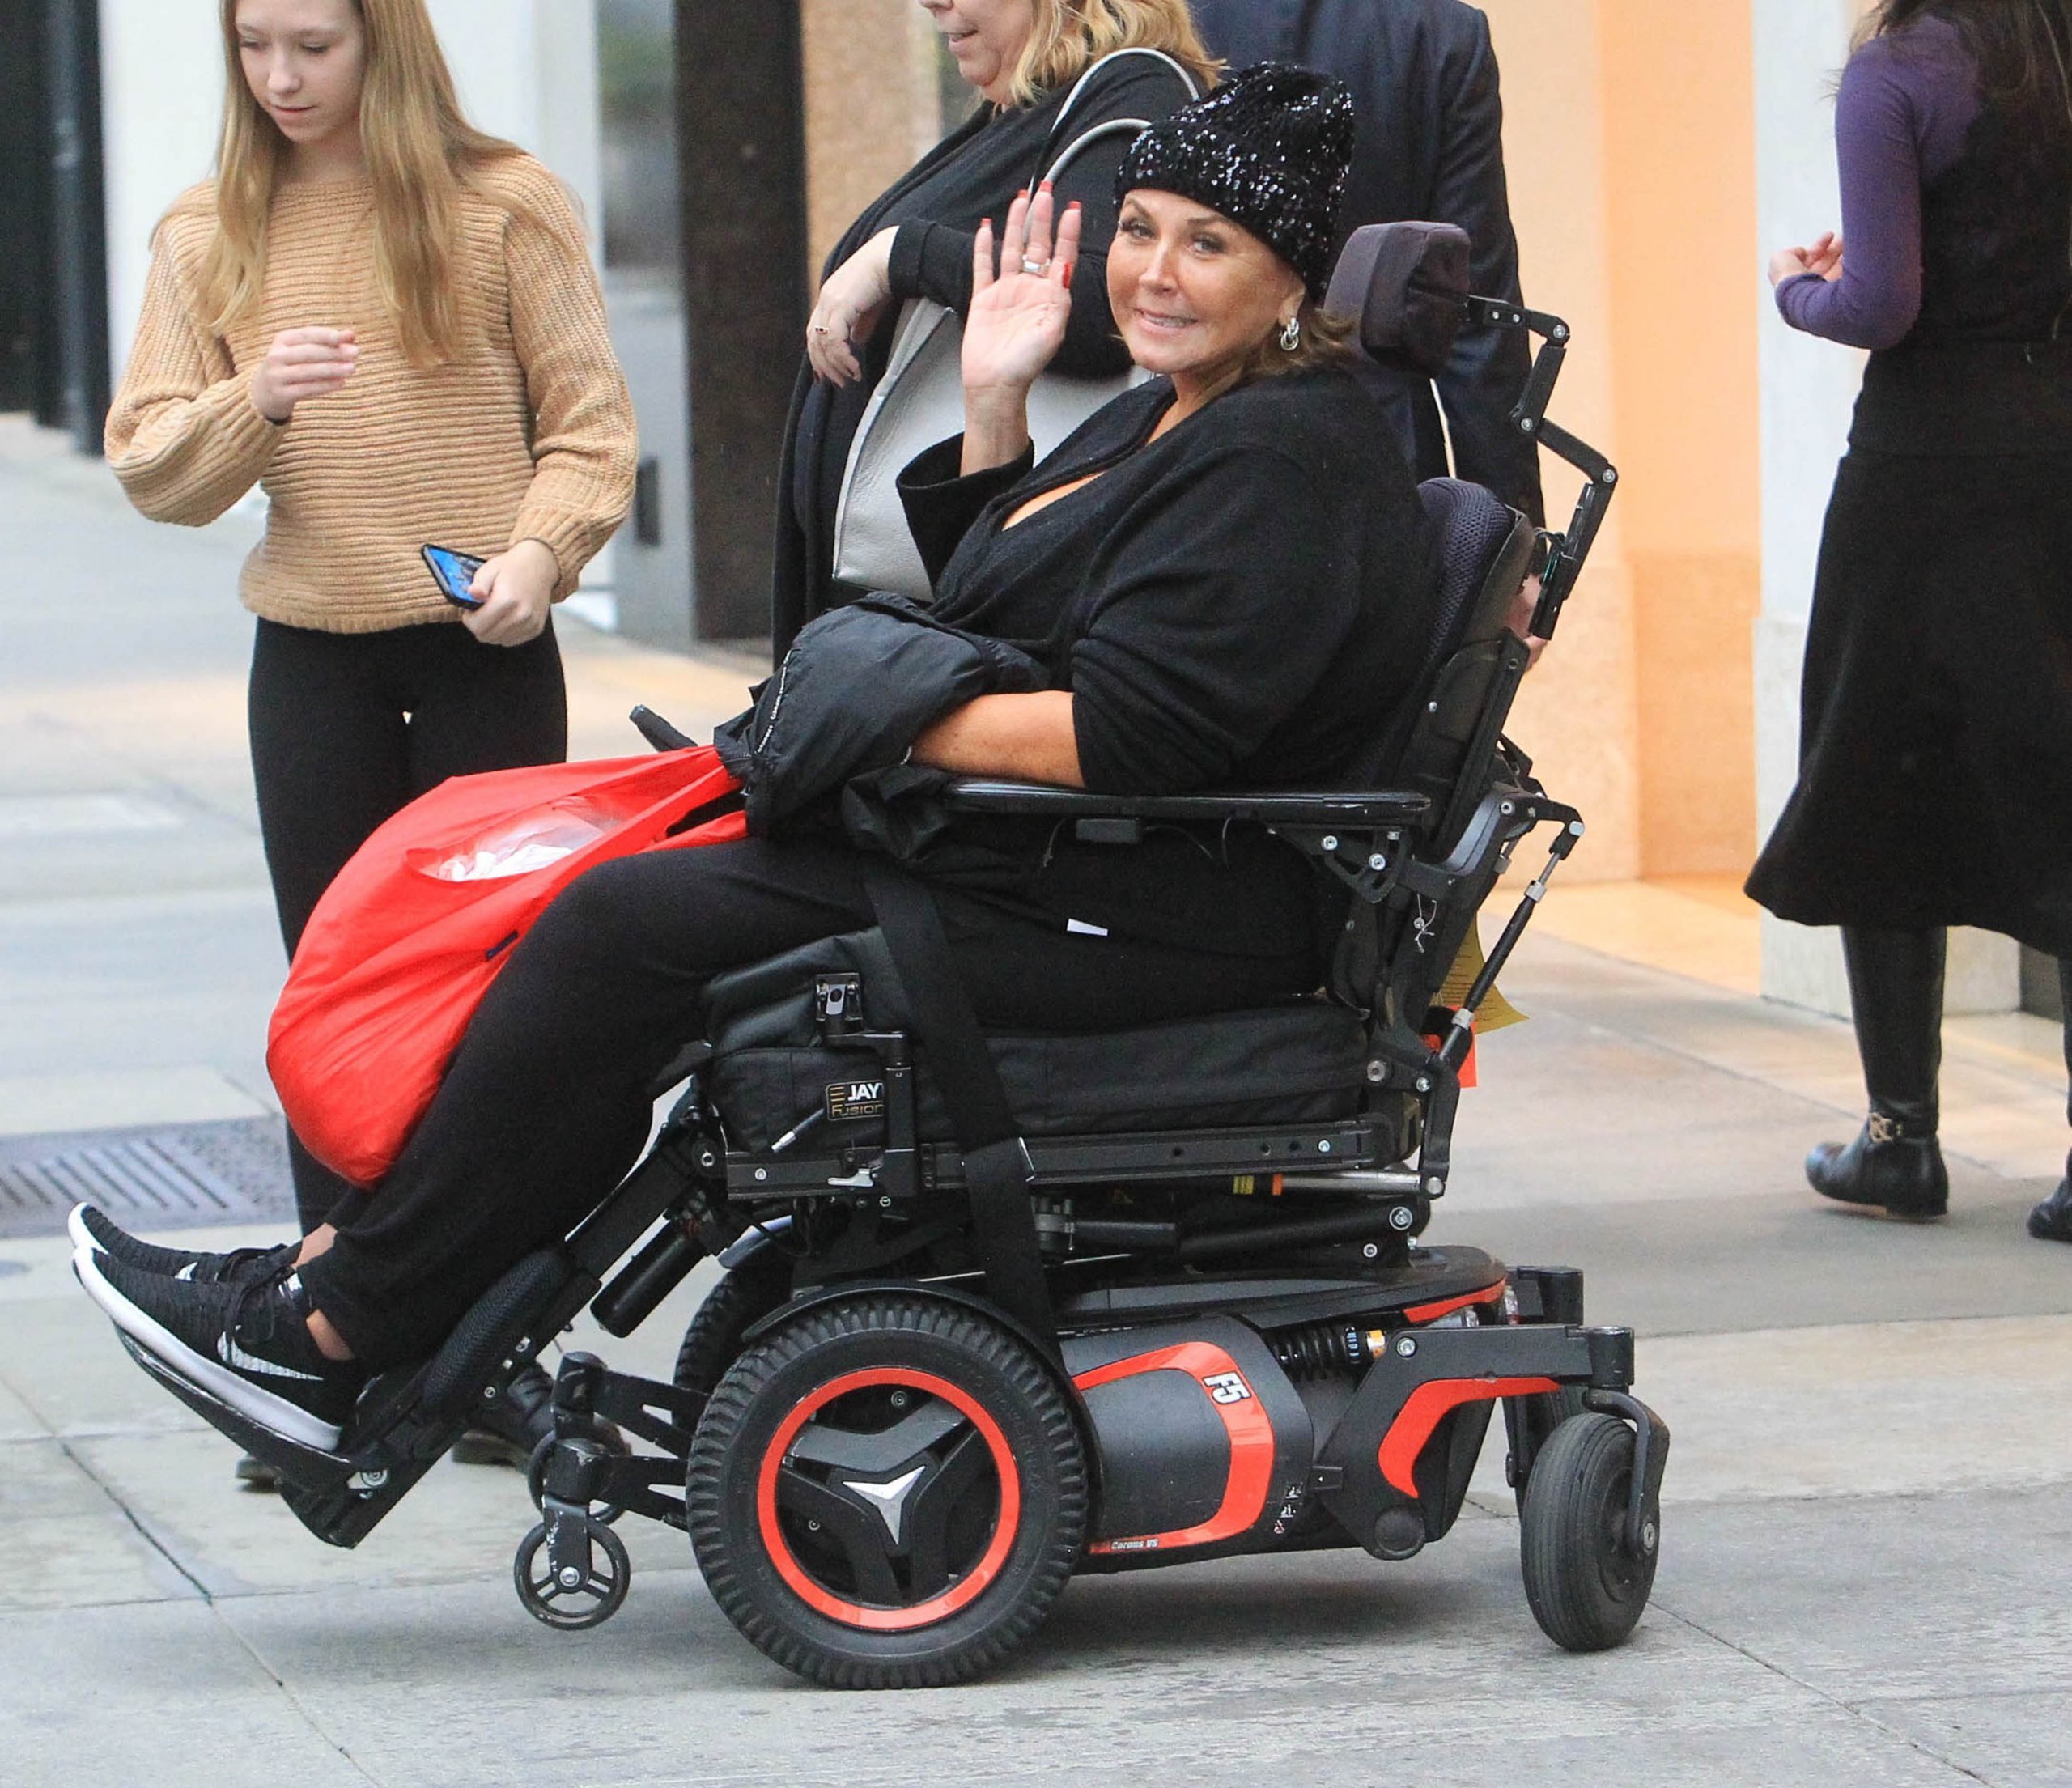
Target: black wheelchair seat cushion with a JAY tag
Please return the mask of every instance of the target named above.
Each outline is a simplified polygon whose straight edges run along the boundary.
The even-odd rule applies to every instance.
[[[713,982],[707,1096],[736,1148],[760,1152],[821,1115],[810,1148],[874,1146],[883,1137],[879,1057],[860,1040],[825,1044],[816,986],[856,974],[872,1028],[905,1030],[897,974],[879,932],[823,939]],[[1365,1075],[1359,1015],[1322,999],[1080,1036],[990,1034],[986,1044],[1024,1135],[1127,1135],[1353,1117]],[[926,1055],[918,1121],[949,1142]]]

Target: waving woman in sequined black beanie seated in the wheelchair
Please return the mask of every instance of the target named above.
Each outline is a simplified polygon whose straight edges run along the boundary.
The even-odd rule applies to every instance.
[[[1345,89],[1276,66],[1138,141],[1106,271],[1152,377],[1040,466],[1026,396],[1063,338],[1077,211],[1053,220],[1038,193],[999,253],[980,234],[966,433],[916,460],[903,495],[937,574],[932,624],[1015,646],[1044,686],[932,717],[912,762],[1102,791],[1343,785],[1411,700],[1432,539],[1320,309],[1351,145]],[[611,1191],[707,982],[872,924],[868,856],[825,812],[574,883],[491,986],[390,1179],[336,1229],[195,1256],[81,1212],[87,1291],[174,1374],[334,1446],[369,1372],[431,1353]],[[1127,1028],[1324,976],[1314,878],[1264,831],[1115,852],[1048,823],[968,820],[910,868],[972,1005],[1003,1028]]]

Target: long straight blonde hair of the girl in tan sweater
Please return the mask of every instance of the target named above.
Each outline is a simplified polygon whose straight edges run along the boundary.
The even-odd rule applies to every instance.
[[[361,145],[375,189],[375,278],[414,367],[462,350],[454,255],[460,197],[481,174],[524,151],[477,131],[425,0],[352,0],[367,31]],[[201,263],[201,302],[228,334],[265,288],[265,226],[286,139],[261,110],[238,56],[238,0],[222,0],[224,133],[215,151],[215,236]],[[510,199],[499,199],[510,205]]]

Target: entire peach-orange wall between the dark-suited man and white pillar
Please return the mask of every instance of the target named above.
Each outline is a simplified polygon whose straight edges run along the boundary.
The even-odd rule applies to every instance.
[[[1620,466],[1515,731],[1593,823],[1577,868],[1755,852],[1755,87],[1726,0],[1486,0],[1525,294],[1577,325],[1556,412]],[[1573,481],[1552,520],[1564,518]]]

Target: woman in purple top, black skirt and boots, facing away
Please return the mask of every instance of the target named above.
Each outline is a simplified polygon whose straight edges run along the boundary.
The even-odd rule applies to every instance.
[[[1836,143],[1848,255],[1769,278],[1792,327],[1873,352],[1749,893],[1842,926],[1871,1117],[1807,1177],[1933,1218],[1946,928],[2055,955],[2072,999],[2072,0],[1883,0]],[[2028,1231],[2072,1241],[2072,1158]]]

